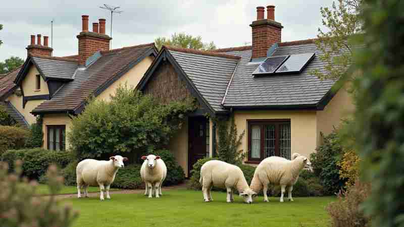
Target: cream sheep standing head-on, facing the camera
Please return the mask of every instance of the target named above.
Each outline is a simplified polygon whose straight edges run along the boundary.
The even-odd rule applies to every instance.
[[[156,198],[162,195],[161,186],[167,177],[167,166],[160,156],[149,154],[142,156],[143,164],[140,168],[140,177],[145,183],[144,195],[151,198],[153,197],[153,191],[156,191]]]

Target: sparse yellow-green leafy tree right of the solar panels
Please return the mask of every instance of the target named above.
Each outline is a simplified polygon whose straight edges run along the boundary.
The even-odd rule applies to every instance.
[[[318,69],[311,72],[320,79],[337,80],[345,74],[347,68],[352,64],[352,46],[350,38],[362,32],[362,21],[360,19],[362,0],[338,0],[332,8],[321,8],[323,25],[328,31],[318,29],[317,48],[323,54],[319,56],[325,63],[325,72]],[[349,79],[349,78],[348,78]]]

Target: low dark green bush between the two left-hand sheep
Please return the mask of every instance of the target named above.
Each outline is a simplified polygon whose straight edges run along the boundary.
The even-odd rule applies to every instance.
[[[140,164],[131,164],[125,166],[123,169],[119,169],[111,187],[123,189],[143,188],[144,184],[140,178],[140,167]]]

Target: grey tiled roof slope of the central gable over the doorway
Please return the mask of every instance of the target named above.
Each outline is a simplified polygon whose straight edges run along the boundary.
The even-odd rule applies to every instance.
[[[240,58],[183,48],[170,47],[168,51],[214,111],[226,111],[221,101]]]

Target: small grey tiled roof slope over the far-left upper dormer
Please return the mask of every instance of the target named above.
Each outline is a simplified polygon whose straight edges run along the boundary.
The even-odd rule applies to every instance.
[[[32,60],[46,78],[72,80],[78,67],[76,60],[33,55]]]

